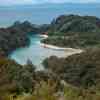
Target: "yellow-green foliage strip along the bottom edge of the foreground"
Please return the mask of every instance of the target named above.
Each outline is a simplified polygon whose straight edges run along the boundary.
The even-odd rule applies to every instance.
[[[51,84],[52,83],[52,84]],[[32,94],[23,94],[17,96],[13,100],[99,100],[100,91],[92,89],[77,88],[75,86],[66,85],[63,86],[62,91],[55,92],[56,83],[53,81],[44,82],[41,81],[36,84],[34,92]],[[61,95],[60,95],[61,93]],[[12,100],[12,99],[7,99]]]

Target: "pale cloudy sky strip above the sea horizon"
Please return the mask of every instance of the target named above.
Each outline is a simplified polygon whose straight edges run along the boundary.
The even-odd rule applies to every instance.
[[[92,3],[100,0],[0,0],[0,5],[40,4],[40,3]]]

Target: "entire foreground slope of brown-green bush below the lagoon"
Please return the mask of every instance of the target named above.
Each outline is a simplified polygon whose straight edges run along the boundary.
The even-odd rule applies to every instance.
[[[100,49],[50,57],[46,70],[0,58],[0,100],[99,100]]]

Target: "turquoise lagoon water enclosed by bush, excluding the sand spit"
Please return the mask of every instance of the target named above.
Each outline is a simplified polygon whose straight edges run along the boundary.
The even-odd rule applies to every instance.
[[[18,62],[19,64],[26,64],[27,60],[31,60],[37,69],[42,69],[42,61],[52,55],[58,57],[64,57],[65,51],[57,51],[49,48],[44,48],[40,45],[40,40],[43,39],[39,35],[30,36],[30,46],[25,48],[20,48],[14,51],[10,58]]]

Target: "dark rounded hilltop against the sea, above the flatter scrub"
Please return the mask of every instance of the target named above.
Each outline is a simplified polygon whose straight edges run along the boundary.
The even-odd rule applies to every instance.
[[[98,32],[100,19],[94,16],[62,15],[51,23],[50,30],[59,32]]]

